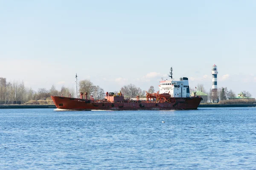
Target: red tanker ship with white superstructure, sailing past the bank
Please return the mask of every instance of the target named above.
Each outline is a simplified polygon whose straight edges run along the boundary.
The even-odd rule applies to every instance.
[[[76,76],[77,77],[77,76]],[[87,92],[80,92],[79,98],[64,96],[51,96],[58,109],[70,110],[173,110],[173,109],[197,109],[202,98],[190,96],[189,80],[186,77],[179,81],[172,79],[172,68],[169,79],[163,79],[156,93],[146,92],[145,100],[125,98],[122,92],[114,94],[106,92],[102,100],[88,98]],[[77,81],[76,81],[77,82]]]

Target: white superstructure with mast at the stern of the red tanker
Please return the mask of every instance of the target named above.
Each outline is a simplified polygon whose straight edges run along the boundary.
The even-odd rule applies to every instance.
[[[172,68],[169,80],[160,81],[159,94],[169,93],[173,98],[186,98],[189,97],[189,79],[186,77],[180,78],[180,81],[172,79]]]

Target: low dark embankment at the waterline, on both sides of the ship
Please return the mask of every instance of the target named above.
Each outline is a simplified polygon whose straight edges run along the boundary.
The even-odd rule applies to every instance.
[[[199,104],[201,107],[256,107],[256,104]],[[56,109],[54,104],[51,105],[0,105],[0,109]]]

